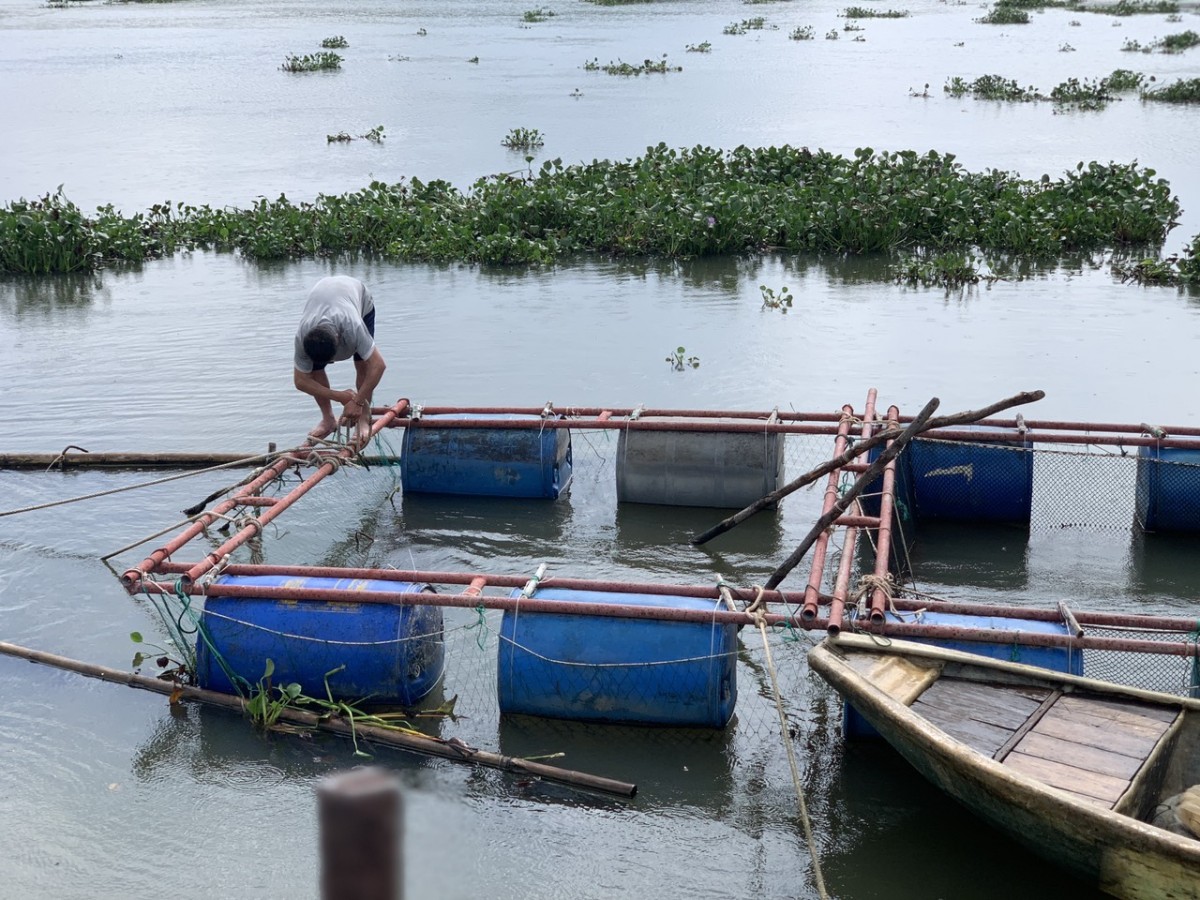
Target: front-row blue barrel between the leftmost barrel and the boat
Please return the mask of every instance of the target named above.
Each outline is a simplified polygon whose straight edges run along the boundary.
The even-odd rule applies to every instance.
[[[520,596],[515,590],[512,596]],[[544,588],[539,600],[713,612],[715,600]],[[738,698],[737,626],[506,611],[502,713],[722,728]]]

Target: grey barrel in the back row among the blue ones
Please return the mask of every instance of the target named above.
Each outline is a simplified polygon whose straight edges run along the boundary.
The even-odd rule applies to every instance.
[[[617,442],[617,499],[625,503],[740,509],[782,482],[784,436],[776,432],[631,430]]]

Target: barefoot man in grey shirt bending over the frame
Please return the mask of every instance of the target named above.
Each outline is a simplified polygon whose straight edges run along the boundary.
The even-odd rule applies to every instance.
[[[338,391],[329,385],[325,366],[354,358],[354,390]],[[295,340],[296,390],[312,395],[320,409],[320,422],[310,434],[324,437],[338,422],[355,427],[355,437],[371,433],[371,394],[386,364],[374,343],[374,302],[358,278],[335,275],[318,281],[304,306]],[[334,418],[334,401],[342,415]]]

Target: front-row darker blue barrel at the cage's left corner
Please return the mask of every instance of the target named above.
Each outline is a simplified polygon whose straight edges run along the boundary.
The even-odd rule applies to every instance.
[[[202,688],[234,692],[221,660],[229,671],[257,685],[270,659],[275,662],[272,684],[295,682],[308,696],[325,697],[325,673],[344,665],[343,671],[329,677],[335,697],[413,706],[442,677],[442,607],[352,599],[356,590],[433,593],[427,584],[284,575],[222,575],[216,583],[344,590],[347,600],[206,598],[200,623],[208,640],[199,635],[196,644]]]

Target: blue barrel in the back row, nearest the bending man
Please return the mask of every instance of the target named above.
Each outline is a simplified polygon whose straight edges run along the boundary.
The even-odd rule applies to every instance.
[[[438,428],[438,420],[480,421],[478,428]],[[528,428],[488,428],[496,420],[528,420]],[[545,428],[540,415],[456,413],[426,415],[404,428],[400,476],[404,493],[557,499],[571,481],[571,432]]]

